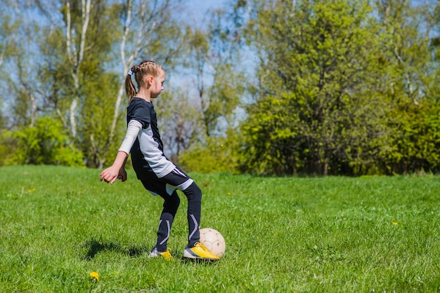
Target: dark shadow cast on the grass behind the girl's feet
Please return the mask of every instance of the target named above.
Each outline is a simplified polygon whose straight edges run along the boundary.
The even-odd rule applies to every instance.
[[[128,254],[130,257],[138,257],[145,252],[149,252],[145,247],[122,247],[119,243],[103,242],[95,239],[87,240],[86,243],[84,243],[84,247],[86,248],[86,254],[84,255],[84,259],[86,260],[91,260],[99,252],[105,251]]]

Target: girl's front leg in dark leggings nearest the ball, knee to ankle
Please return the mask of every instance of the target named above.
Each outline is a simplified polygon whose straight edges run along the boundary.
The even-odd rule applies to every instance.
[[[200,211],[202,209],[202,191],[193,182],[187,189],[183,190],[188,198],[188,247],[193,247],[200,240]]]

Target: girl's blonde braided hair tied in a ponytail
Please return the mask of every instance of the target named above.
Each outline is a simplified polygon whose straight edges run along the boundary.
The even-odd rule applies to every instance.
[[[136,79],[136,83],[138,84],[138,89],[144,86],[144,77],[145,75],[152,75],[154,77],[160,76],[162,72],[165,72],[163,67],[151,60],[145,60],[141,63],[134,65],[131,67],[129,74],[125,78],[125,94],[131,101],[134,95],[136,95],[136,88],[134,88],[133,81],[131,81],[131,75],[134,74],[134,79]]]

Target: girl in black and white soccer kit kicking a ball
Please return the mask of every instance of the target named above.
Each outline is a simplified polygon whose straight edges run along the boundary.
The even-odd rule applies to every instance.
[[[137,92],[131,81],[133,74],[138,85]],[[149,256],[163,257],[167,260],[172,258],[167,249],[167,241],[180,203],[176,190],[180,190],[188,199],[188,245],[183,251],[183,257],[217,260],[219,257],[209,252],[199,242],[202,191],[193,179],[164,155],[162,139],[157,129],[156,112],[151,103],[151,99],[155,99],[164,89],[164,81],[164,69],[153,61],[143,61],[131,67],[125,79],[125,92],[129,97],[127,133],[117,152],[115,162],[101,173],[101,181],[104,180],[110,184],[113,184],[116,179],[126,181],[127,172],[124,166],[128,154],[131,153],[134,171],[145,189],[164,199],[157,242]]]

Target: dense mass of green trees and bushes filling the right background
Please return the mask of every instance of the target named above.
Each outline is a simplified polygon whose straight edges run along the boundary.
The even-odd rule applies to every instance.
[[[380,3],[256,1],[247,39],[261,62],[242,123],[243,172],[439,171],[425,8]]]

